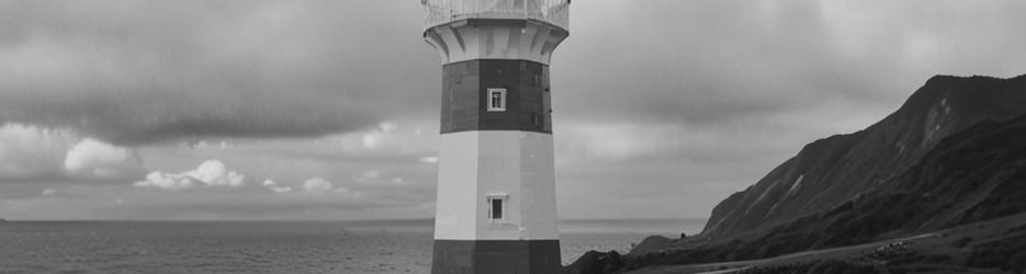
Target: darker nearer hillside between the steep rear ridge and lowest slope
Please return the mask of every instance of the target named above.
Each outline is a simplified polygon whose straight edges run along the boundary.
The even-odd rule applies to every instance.
[[[951,135],[839,205],[769,227],[753,256],[842,247],[1026,212],[1026,115]]]

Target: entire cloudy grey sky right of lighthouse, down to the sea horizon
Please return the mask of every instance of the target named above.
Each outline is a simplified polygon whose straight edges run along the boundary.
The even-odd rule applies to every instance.
[[[1013,35],[1026,25],[1023,1],[572,9],[571,37],[552,64],[556,155],[580,156],[557,161],[571,214],[708,216],[802,145],[883,118],[934,75],[1026,73],[1026,36]],[[574,135],[586,123],[597,129]],[[595,160],[604,156],[612,157]],[[628,203],[652,199],[662,202]]]

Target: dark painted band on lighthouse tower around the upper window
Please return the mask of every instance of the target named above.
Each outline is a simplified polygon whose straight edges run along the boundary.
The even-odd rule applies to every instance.
[[[489,111],[488,90],[504,90],[503,111]],[[552,134],[549,66],[476,59],[443,67],[441,134],[521,130]]]

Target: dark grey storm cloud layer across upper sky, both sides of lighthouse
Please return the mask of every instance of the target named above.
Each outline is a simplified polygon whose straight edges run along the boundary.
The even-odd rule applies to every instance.
[[[553,62],[554,103],[560,118],[706,126],[830,101],[893,105],[933,75],[1015,75],[1021,54],[1002,56],[1026,37],[1001,26],[1026,24],[1014,16],[1022,5],[575,3]],[[0,122],[144,144],[317,136],[437,107],[438,60],[420,41],[416,3],[2,8]]]

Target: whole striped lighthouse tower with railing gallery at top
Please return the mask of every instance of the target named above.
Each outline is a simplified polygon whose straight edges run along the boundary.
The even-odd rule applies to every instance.
[[[442,60],[431,273],[559,273],[549,62],[570,0],[421,0]]]

